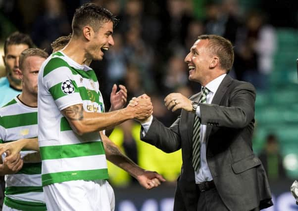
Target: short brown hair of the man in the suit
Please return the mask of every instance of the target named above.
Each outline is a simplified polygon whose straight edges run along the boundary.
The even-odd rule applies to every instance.
[[[220,67],[229,72],[234,63],[234,49],[232,43],[218,35],[200,35],[198,40],[209,40],[208,48],[218,56]]]

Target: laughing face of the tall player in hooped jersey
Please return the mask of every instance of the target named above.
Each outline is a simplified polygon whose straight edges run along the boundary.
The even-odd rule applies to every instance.
[[[92,60],[102,60],[104,52],[107,51],[110,46],[114,45],[112,34],[112,21],[103,23],[99,30],[94,33],[89,52]]]

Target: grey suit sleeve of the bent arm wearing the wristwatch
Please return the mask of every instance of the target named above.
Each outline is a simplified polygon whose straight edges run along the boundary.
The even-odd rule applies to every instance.
[[[228,106],[199,104],[202,125],[243,128],[254,119],[255,89],[251,84],[236,86],[229,96]]]

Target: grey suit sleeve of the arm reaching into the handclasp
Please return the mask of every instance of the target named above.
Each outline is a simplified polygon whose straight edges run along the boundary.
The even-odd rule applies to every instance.
[[[180,117],[173,123],[171,127],[165,127],[155,117],[149,127],[146,135],[141,130],[141,140],[145,141],[166,153],[175,152],[181,149],[181,137],[179,134]]]

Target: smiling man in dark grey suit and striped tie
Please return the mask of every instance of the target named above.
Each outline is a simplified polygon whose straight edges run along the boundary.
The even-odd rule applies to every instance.
[[[189,80],[202,91],[187,98],[171,93],[168,109],[182,109],[171,127],[154,117],[141,138],[171,153],[182,149],[174,211],[258,211],[272,206],[269,184],[252,151],[255,89],[227,73],[234,61],[230,41],[202,35],[186,56]],[[134,106],[137,98],[130,101]]]

